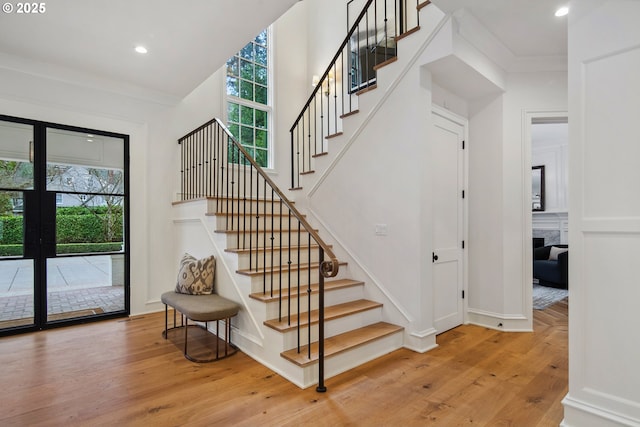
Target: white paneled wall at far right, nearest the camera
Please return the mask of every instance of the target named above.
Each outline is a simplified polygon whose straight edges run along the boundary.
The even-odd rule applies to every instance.
[[[562,425],[638,426],[640,2],[570,6],[571,309]]]

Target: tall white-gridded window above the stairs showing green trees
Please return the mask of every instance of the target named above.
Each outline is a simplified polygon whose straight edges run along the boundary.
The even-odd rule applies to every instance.
[[[269,29],[227,61],[227,126],[262,167],[270,167]]]

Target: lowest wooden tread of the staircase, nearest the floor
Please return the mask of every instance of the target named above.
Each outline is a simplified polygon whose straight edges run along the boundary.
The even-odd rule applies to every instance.
[[[340,335],[326,338],[324,341],[324,357],[329,358],[343,353],[347,350],[359,347],[361,345],[372,342],[376,339],[386,337],[396,332],[402,331],[404,328],[387,322],[378,322],[372,325],[363,326]],[[291,349],[280,353],[282,357],[304,367],[317,362],[318,360],[318,343],[311,344],[311,358],[308,357],[308,345],[302,346],[300,352],[297,349]]]

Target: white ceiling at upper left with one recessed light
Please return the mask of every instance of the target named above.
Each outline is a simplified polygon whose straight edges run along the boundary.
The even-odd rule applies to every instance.
[[[296,1],[54,0],[0,13],[0,69],[182,99]]]

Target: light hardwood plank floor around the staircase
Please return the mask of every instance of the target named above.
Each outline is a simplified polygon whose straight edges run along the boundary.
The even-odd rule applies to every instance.
[[[238,352],[210,364],[164,340],[164,313],[0,338],[2,426],[557,426],[567,303],[534,333],[461,326],[300,390]],[[195,335],[194,335],[195,337]]]

